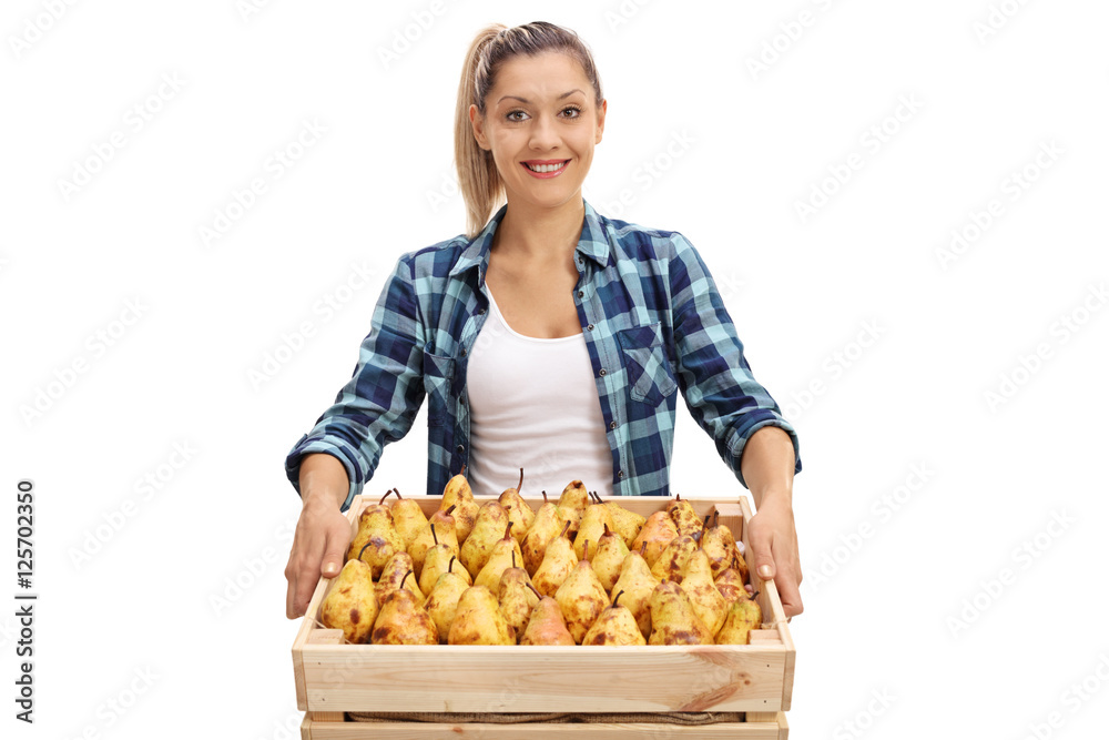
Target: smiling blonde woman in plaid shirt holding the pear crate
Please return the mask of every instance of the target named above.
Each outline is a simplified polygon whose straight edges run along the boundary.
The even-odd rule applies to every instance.
[[[429,495],[462,465],[478,493],[502,490],[522,466],[535,490],[581,479],[669,495],[679,388],[755,499],[750,558],[786,614],[801,614],[796,435],[752,377],[692,245],[582,200],[607,108],[572,31],[533,22],[475,39],[455,131],[468,233],[398,261],[354,377],[288,455],[303,501],[289,618],[321,572],[338,572],[342,511],[425,396]]]

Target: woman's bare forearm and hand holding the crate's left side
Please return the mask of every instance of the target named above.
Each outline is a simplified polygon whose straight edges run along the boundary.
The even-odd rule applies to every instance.
[[[305,456],[301,464],[301,518],[285,566],[285,616],[303,617],[319,576],[334,578],[346,562],[350,523],[339,510],[348,489],[346,469],[330,455]]]

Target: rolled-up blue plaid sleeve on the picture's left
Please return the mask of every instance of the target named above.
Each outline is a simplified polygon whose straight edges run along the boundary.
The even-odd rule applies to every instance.
[[[385,445],[411,428],[424,401],[424,344],[411,268],[401,259],[374,308],[354,375],[285,458],[285,474],[298,494],[302,459],[325,453],[346,468],[350,488],[343,510],[350,506],[373,477]]]

